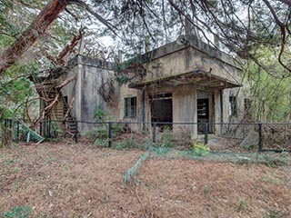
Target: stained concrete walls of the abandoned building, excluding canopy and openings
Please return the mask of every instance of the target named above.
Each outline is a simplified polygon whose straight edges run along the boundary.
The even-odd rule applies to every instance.
[[[148,55],[148,54],[145,54]],[[145,57],[145,56],[144,56]],[[185,74],[196,70],[203,70],[210,74],[218,75],[236,84],[241,82],[241,69],[226,54],[219,53],[209,45],[196,41],[194,38],[189,45],[177,45],[176,42],[162,46],[150,53],[146,66],[145,80],[164,78],[170,75]],[[132,89],[128,84],[119,86],[115,83],[115,93],[112,102],[105,102],[100,94],[100,87],[114,76],[113,64],[102,63],[79,55],[76,58],[74,69],[67,75],[76,75],[75,82],[63,89],[63,94],[68,96],[68,102],[75,95],[73,114],[77,120],[93,121],[97,105],[101,106],[116,121],[151,122],[151,104],[149,94],[172,93],[173,122],[197,122],[197,90],[212,92],[209,96],[211,110],[210,122],[237,122],[242,120],[244,111],[244,94],[236,89],[206,90],[197,84],[175,84],[160,86],[154,84],[142,90]],[[237,94],[237,117],[229,119],[229,95]],[[136,97],[136,116],[125,117],[124,104],[126,97]],[[214,101],[214,102],[213,102]],[[212,108],[212,106],[214,108]],[[222,106],[222,107],[221,107]],[[82,127],[85,130],[87,127]],[[140,130],[142,125],[132,125],[133,130]],[[151,130],[149,124],[147,130]],[[197,134],[197,126],[174,126],[174,131],[186,129],[193,136]],[[222,130],[216,125],[215,133]]]

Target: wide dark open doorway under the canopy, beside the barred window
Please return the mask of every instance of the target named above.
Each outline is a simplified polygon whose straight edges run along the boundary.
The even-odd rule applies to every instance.
[[[151,102],[151,121],[152,122],[173,122],[172,94],[150,95]],[[160,126],[169,124],[159,124]]]

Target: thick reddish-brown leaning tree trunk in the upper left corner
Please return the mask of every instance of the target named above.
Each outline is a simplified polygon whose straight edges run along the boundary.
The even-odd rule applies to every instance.
[[[55,19],[68,5],[69,0],[51,0],[35,18],[32,25],[20,35],[13,45],[0,55],[0,75],[34,45],[37,39],[45,34],[45,30],[52,25]]]

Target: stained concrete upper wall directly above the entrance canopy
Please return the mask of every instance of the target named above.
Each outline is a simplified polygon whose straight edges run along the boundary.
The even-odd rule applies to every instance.
[[[144,81],[203,70],[236,83],[241,82],[241,69],[231,56],[227,57],[204,43],[198,46],[190,41],[190,45],[185,46],[174,42],[154,50],[148,59]]]

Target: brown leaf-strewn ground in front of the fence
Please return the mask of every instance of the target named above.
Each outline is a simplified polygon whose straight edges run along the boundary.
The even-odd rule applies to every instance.
[[[27,205],[31,217],[291,217],[290,165],[149,158],[84,144],[0,150],[0,212]]]

